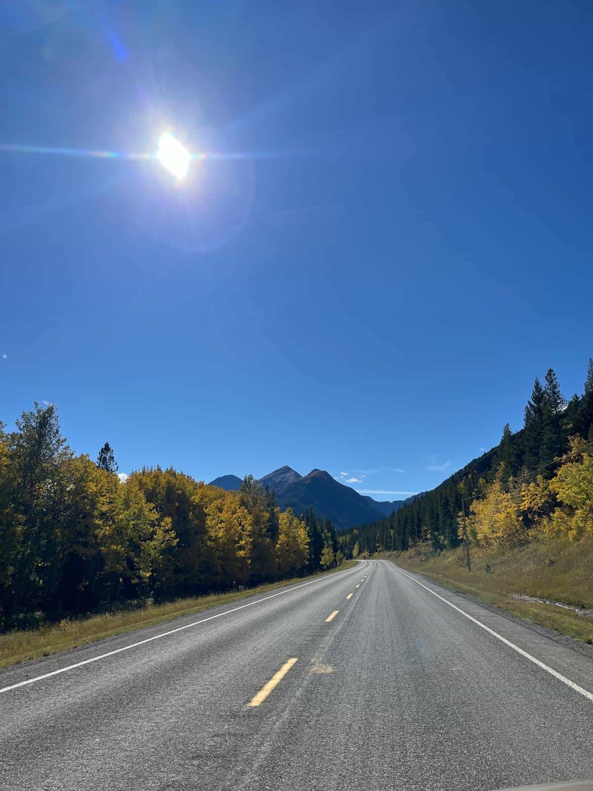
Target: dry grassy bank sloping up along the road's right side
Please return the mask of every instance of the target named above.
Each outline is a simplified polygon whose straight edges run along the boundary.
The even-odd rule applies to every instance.
[[[523,593],[593,609],[593,538],[542,538],[523,547],[470,547],[470,552],[471,573],[464,547],[438,554],[421,547],[419,554],[410,550],[387,557],[403,568],[497,604],[519,618],[593,643],[593,618],[553,604],[518,601],[511,596]]]

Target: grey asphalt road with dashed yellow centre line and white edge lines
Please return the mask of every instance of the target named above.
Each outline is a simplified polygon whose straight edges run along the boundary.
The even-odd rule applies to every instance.
[[[593,778],[592,691],[593,660],[571,645],[363,561],[0,673],[0,788],[457,791]]]

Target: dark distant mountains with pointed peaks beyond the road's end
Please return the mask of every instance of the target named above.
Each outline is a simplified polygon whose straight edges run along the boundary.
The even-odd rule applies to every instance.
[[[389,516],[414,499],[376,501],[340,483],[329,472],[315,469],[308,475],[300,475],[287,465],[264,475],[258,483],[274,491],[281,509],[292,508],[295,513],[313,509],[317,516],[330,519],[342,530]],[[228,491],[236,491],[240,484],[241,479],[236,475],[222,475],[210,482],[210,486]]]

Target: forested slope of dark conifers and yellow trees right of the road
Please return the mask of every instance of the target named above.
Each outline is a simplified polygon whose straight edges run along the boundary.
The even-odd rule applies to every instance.
[[[386,519],[339,536],[346,557],[429,542],[456,547],[463,509],[470,539],[520,543],[537,532],[593,534],[593,359],[583,395],[568,401],[553,369],[534,382],[524,426]]]

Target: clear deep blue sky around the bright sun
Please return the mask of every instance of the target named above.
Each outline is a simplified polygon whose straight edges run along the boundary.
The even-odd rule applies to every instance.
[[[18,0],[0,37],[9,425],[394,499],[549,366],[582,391],[591,4]],[[123,156],[165,130],[217,157]]]

